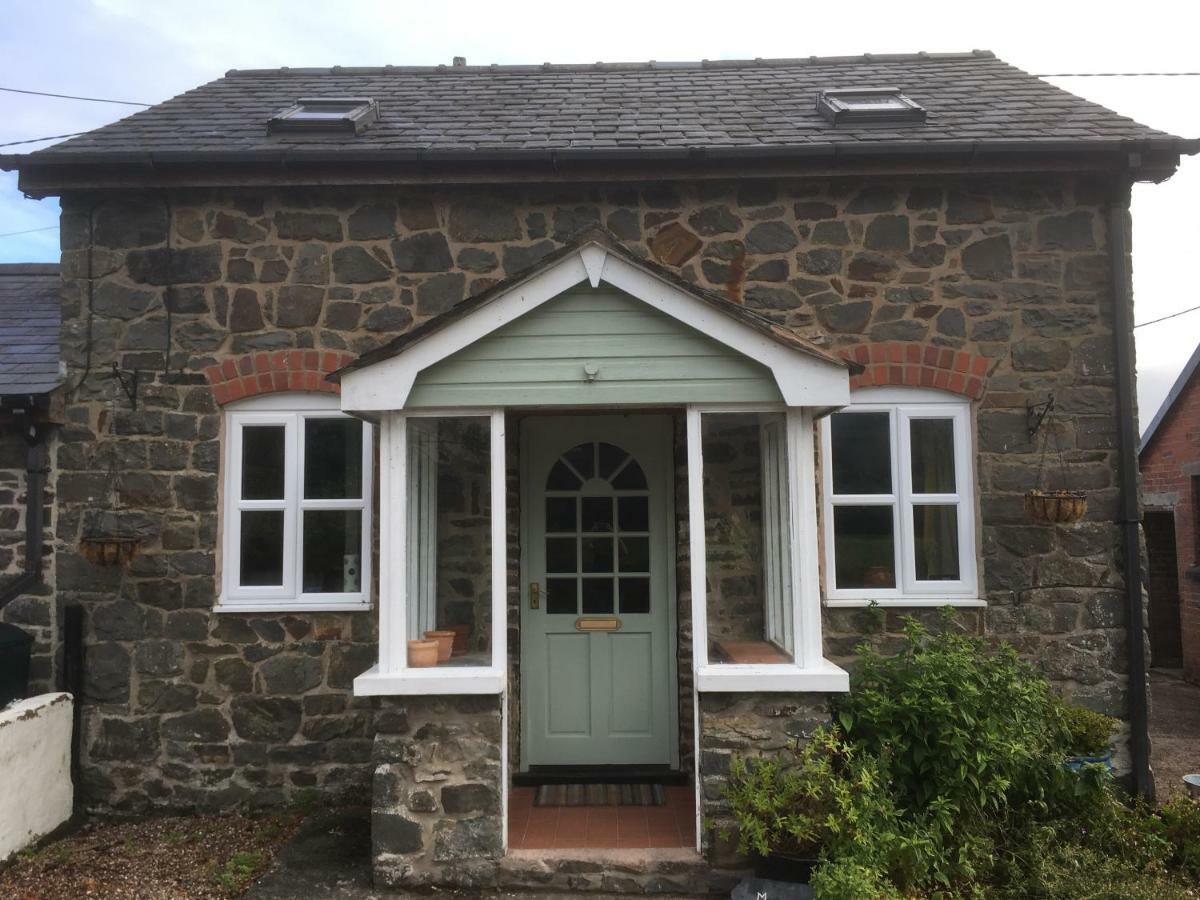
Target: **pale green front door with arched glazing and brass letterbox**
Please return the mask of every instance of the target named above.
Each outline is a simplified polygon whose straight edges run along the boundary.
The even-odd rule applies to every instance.
[[[671,419],[522,426],[522,768],[674,762]]]

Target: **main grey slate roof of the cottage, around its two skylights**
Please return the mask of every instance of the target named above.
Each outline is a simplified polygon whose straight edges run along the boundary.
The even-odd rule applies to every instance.
[[[925,125],[835,127],[824,89],[895,86]],[[366,96],[379,121],[359,136],[269,134],[300,97]],[[28,163],[606,158],[922,150],[1193,152],[991,53],[545,66],[386,66],[230,71],[127,119],[26,156]]]

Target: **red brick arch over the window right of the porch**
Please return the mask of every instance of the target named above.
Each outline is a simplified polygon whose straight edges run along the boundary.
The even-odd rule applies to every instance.
[[[845,347],[838,350],[838,355],[866,367],[859,374],[851,376],[852,390],[880,385],[937,388],[971,400],[983,396],[989,370],[996,361],[966,350],[902,341]]]

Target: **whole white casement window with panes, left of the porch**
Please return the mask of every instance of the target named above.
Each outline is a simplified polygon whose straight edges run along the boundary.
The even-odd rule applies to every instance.
[[[220,610],[362,610],[371,590],[371,426],[326,395],[226,408]]]

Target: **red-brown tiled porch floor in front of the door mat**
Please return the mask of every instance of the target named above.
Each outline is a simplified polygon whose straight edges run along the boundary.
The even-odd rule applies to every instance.
[[[694,847],[696,806],[691,787],[666,787],[664,806],[538,806],[535,787],[509,794],[512,850],[634,850]]]

